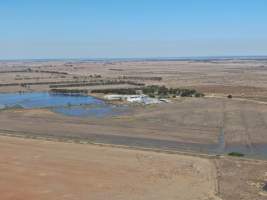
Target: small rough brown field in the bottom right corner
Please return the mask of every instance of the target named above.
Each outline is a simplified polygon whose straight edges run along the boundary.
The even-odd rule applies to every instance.
[[[225,200],[264,200],[267,191],[267,162],[222,158],[217,164],[219,196]]]

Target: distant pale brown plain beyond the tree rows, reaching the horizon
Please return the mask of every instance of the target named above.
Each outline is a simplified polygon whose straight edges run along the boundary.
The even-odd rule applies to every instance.
[[[30,71],[29,71],[30,70]],[[120,79],[169,87],[192,87],[206,94],[266,100],[267,61],[13,61],[0,63],[0,84]],[[97,76],[97,77],[98,77]],[[99,79],[99,78],[98,78]],[[47,84],[49,85],[49,84]],[[12,86],[8,86],[12,89]],[[0,87],[0,91],[8,91]],[[17,91],[48,90],[17,87]],[[12,91],[15,91],[14,89]]]

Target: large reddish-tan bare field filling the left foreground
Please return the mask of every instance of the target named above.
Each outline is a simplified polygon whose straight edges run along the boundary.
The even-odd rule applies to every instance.
[[[216,170],[202,158],[0,137],[5,200],[215,200]]]

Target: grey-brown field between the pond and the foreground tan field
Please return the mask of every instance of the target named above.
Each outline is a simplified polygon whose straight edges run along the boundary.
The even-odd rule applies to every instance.
[[[117,117],[76,118],[40,110],[0,112],[2,132],[203,153],[266,156],[265,104],[234,99],[180,99],[132,106]]]

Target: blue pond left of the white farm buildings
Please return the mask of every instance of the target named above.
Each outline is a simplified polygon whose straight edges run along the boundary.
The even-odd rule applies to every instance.
[[[125,106],[114,106],[85,95],[52,94],[48,92],[2,93],[0,109],[48,108],[53,112],[76,117],[106,117],[120,115]]]

